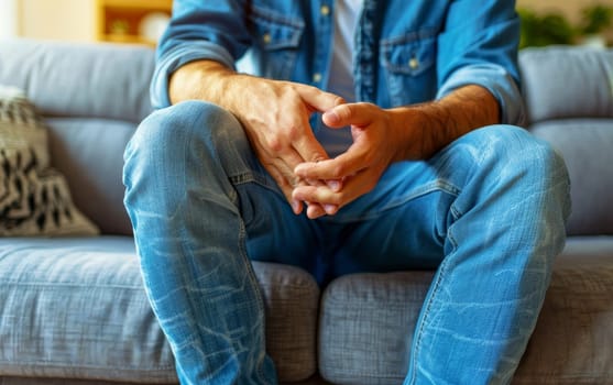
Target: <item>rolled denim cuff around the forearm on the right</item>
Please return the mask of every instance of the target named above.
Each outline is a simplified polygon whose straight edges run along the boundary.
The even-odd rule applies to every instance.
[[[438,90],[437,99],[469,85],[482,86],[492,92],[500,105],[501,123],[525,123],[524,100],[519,87],[508,72],[497,65],[479,64],[457,70]]]

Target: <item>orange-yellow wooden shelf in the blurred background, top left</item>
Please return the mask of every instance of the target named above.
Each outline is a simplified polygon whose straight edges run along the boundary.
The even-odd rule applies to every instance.
[[[172,0],[98,0],[96,35],[100,42],[155,45],[140,26],[153,13],[171,15]]]

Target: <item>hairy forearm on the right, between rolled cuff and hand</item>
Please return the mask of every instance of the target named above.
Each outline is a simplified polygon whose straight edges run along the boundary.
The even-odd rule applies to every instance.
[[[480,86],[466,86],[445,98],[417,106],[392,110],[394,125],[413,131],[406,124],[420,128],[419,145],[403,146],[397,160],[428,158],[463,134],[490,124],[500,123],[500,106],[494,96]],[[403,127],[404,125],[404,127]],[[412,141],[415,136],[412,135]]]

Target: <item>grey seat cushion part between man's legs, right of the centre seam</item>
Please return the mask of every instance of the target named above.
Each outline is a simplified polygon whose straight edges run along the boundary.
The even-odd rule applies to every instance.
[[[321,299],[321,376],[335,384],[402,384],[433,276],[360,273],[333,280]]]

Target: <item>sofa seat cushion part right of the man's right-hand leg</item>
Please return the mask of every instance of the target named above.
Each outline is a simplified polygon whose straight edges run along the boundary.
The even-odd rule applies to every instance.
[[[613,383],[613,238],[573,237],[514,384]]]

